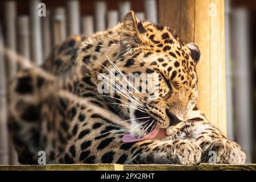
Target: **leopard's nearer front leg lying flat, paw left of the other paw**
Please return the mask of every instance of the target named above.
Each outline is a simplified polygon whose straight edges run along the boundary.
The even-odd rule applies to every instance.
[[[126,164],[199,164],[201,148],[192,140],[147,140],[135,144]]]

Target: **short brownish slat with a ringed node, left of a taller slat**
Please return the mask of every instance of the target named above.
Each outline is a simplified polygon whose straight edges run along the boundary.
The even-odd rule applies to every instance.
[[[53,46],[61,44],[67,38],[65,9],[58,7],[53,11]]]

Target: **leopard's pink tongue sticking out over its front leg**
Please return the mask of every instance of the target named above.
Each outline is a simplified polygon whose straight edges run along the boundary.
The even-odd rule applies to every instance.
[[[130,134],[123,135],[122,142],[132,143],[132,142],[139,142],[147,139],[162,139],[164,135],[166,135],[166,129],[159,129],[158,127],[156,127],[153,131],[151,131],[150,134],[148,134],[146,137],[143,137],[143,138],[135,138]]]

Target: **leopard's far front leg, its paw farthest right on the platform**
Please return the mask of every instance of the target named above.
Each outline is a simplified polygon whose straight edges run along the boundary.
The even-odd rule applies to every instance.
[[[193,110],[187,121],[167,129],[168,139],[192,139],[202,150],[201,162],[244,164],[245,153],[241,147],[226,139],[220,130],[211,125],[200,110]]]

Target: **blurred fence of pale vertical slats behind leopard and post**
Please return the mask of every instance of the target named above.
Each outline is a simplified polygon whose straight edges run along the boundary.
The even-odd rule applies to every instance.
[[[40,65],[68,36],[105,30],[129,10],[140,20],[159,22],[158,0],[1,1],[0,48],[7,47]],[[225,0],[225,15],[228,138],[241,145],[246,163],[255,163],[256,1]],[[7,131],[7,89],[18,69],[16,59],[0,51],[0,165],[18,164]]]

